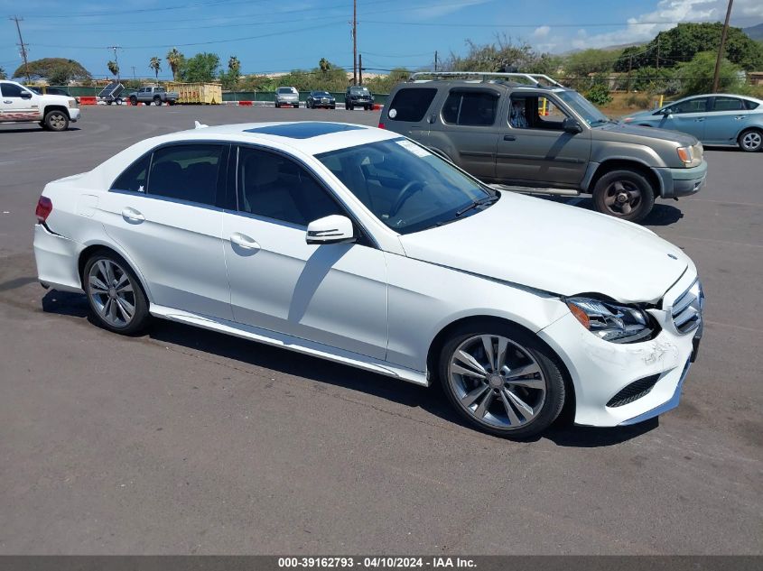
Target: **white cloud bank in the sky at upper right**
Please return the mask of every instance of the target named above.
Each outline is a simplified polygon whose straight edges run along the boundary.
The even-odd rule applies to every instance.
[[[572,47],[578,50],[622,43],[649,41],[657,32],[669,30],[682,22],[719,22],[726,17],[727,0],[660,0],[656,9],[628,19],[624,30],[593,35],[578,32]],[[731,10],[731,23],[742,27],[763,20],[763,2],[737,0]]]

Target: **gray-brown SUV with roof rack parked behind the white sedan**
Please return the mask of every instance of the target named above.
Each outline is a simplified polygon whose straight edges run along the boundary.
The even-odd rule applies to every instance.
[[[591,194],[598,211],[637,222],[655,198],[703,187],[707,163],[691,135],[610,121],[576,91],[528,85],[524,74],[418,75],[392,90],[379,126],[497,189]]]

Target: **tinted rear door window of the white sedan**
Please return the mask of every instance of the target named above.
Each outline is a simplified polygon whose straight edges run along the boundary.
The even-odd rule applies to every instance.
[[[154,151],[147,193],[214,206],[224,151],[219,144],[173,145]]]

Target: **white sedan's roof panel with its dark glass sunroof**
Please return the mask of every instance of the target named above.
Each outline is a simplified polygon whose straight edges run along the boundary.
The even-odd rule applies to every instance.
[[[259,143],[318,154],[400,138],[400,134],[366,125],[326,121],[223,124],[200,127],[160,137],[163,143],[221,139],[233,143]]]

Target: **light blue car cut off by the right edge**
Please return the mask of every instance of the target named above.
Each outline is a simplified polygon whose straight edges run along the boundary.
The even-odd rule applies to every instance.
[[[754,97],[725,93],[686,97],[656,111],[627,115],[622,122],[681,131],[704,144],[763,150],[763,100]]]

